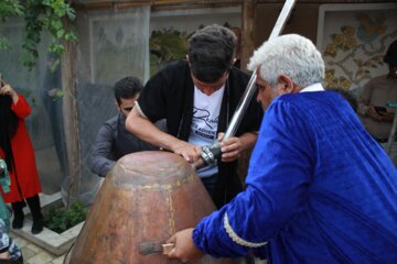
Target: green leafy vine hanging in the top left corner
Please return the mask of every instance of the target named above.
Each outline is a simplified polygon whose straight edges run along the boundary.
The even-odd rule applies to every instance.
[[[32,69],[39,57],[37,44],[41,42],[41,33],[49,33],[53,41],[47,51],[55,57],[51,69],[60,65],[61,55],[64,53],[65,42],[76,42],[76,30],[72,22],[76,12],[66,0],[1,0],[0,19],[6,21],[11,16],[21,16],[25,21],[21,63]],[[0,50],[11,48],[10,42],[0,34]]]

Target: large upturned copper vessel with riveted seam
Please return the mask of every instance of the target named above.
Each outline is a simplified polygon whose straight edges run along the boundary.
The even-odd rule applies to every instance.
[[[215,206],[182,157],[139,152],[120,158],[107,175],[66,263],[174,264],[142,245],[165,242],[195,227]],[[196,263],[232,263],[204,256]]]

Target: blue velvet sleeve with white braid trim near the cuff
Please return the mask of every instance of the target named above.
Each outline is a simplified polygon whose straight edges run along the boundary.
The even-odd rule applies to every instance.
[[[240,256],[264,246],[299,213],[313,169],[304,114],[275,100],[266,111],[256,143],[247,189],[204,218],[193,231],[195,245],[213,256]]]

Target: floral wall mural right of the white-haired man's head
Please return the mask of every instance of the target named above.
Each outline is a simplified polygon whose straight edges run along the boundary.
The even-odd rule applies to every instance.
[[[388,73],[383,56],[397,38],[397,9],[326,13],[322,51],[328,88],[360,94],[373,77]]]

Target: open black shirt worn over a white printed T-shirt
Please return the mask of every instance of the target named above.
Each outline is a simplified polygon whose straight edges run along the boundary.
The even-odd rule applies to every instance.
[[[249,76],[233,67],[225,84],[222,99],[218,131],[225,132],[235,109],[247,87]],[[170,63],[144,86],[138,103],[143,114],[152,122],[167,120],[170,134],[187,141],[191,131],[194,102],[194,84],[186,61]],[[260,128],[262,110],[253,100],[236,131],[235,136],[256,132]],[[215,204],[219,207],[243,190],[237,176],[237,162],[218,163],[218,184]]]

